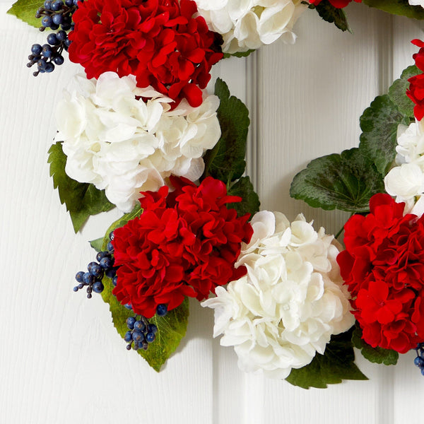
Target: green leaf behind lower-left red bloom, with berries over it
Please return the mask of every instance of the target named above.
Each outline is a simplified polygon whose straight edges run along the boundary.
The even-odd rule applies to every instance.
[[[130,213],[126,213],[122,218],[116,220],[107,229],[105,237],[102,238],[102,250],[106,249],[109,242],[109,234],[112,230],[122,227],[129,220],[140,216],[141,207],[138,204]],[[118,333],[124,338],[126,331],[126,319],[134,317],[134,312],[127,310],[124,305],[121,305],[117,298],[112,294],[112,280],[106,276],[102,279],[105,289],[102,291],[102,298],[110,305],[110,312],[112,313],[112,321]],[[144,359],[147,360],[154,370],[160,371],[162,365],[166,362],[167,358],[175,351],[181,339],[185,336],[187,331],[187,322],[189,317],[189,302],[187,298],[182,302],[179,307],[167,312],[165,317],[151,318],[149,322],[156,324],[158,333],[156,334],[155,341],[148,346],[147,351],[137,351]]]

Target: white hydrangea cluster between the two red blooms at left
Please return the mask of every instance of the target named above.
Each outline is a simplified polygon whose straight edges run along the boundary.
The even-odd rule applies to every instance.
[[[184,100],[171,110],[170,98],[136,87],[133,76],[106,72],[78,83],[82,93],[65,93],[56,113],[69,177],[105,189],[124,212],[140,191],[158,190],[171,174],[199,179],[202,155],[220,137],[215,95],[205,92],[199,107]]]

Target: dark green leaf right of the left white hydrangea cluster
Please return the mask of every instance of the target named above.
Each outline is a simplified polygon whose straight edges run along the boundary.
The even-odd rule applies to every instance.
[[[222,134],[216,146],[204,155],[204,177],[211,175],[223,182],[232,182],[245,172],[249,111],[245,104],[230,96],[227,84],[216,80],[215,94],[220,99],[218,120]]]

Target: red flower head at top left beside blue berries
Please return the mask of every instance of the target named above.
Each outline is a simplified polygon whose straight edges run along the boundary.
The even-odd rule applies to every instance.
[[[88,78],[106,71],[133,74],[175,100],[201,105],[211,66],[222,59],[222,37],[194,17],[192,0],[85,0],[73,13],[69,58]]]

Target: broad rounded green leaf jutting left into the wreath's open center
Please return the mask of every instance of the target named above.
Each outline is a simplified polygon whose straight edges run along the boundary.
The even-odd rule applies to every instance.
[[[370,197],[380,192],[382,176],[358,148],[312,160],[290,187],[290,196],[326,211],[367,212]]]

